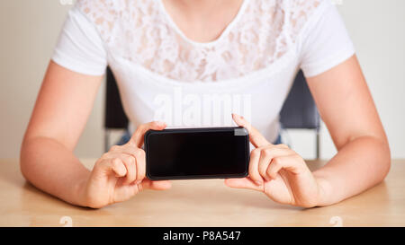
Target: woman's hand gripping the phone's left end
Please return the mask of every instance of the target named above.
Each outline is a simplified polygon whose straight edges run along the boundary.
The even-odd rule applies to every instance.
[[[167,180],[145,179],[145,151],[140,148],[148,129],[162,130],[165,127],[162,122],[140,125],[127,144],[112,146],[108,153],[104,153],[85,181],[82,192],[85,206],[99,208],[122,202],[143,188],[170,188]]]

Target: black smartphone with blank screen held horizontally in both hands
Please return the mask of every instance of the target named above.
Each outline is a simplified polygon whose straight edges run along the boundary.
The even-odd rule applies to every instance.
[[[247,176],[249,134],[243,127],[148,130],[148,179],[226,179]]]

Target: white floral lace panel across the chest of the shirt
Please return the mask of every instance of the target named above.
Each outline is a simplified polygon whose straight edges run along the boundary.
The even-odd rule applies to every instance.
[[[292,48],[321,0],[245,0],[230,29],[201,45],[176,31],[158,1],[78,0],[76,7],[114,55],[177,81],[214,82],[274,64]]]

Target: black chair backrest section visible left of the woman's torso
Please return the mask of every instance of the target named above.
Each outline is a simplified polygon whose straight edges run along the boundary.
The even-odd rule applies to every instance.
[[[120,92],[110,67],[107,67],[106,78],[104,127],[106,129],[127,128],[128,118],[123,111]]]

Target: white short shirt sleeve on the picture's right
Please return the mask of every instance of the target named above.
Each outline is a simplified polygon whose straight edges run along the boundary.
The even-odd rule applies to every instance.
[[[324,0],[299,37],[301,68],[306,77],[322,74],[355,54],[336,6]]]

